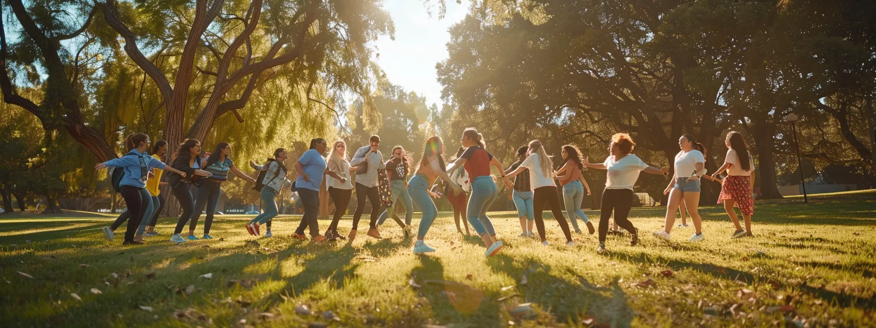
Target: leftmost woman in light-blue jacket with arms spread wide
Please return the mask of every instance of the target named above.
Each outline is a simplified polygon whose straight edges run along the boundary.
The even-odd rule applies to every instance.
[[[128,220],[128,227],[124,231],[123,245],[141,245],[143,242],[134,241],[134,233],[140,225],[140,220],[143,220],[146,207],[152,203],[152,195],[146,190],[148,172],[152,168],[158,168],[159,170],[172,171],[181,176],[185,176],[186,173],[166,166],[155,157],[149,156],[146,153],[146,149],[149,148],[149,136],[144,133],[129,135],[124,141],[131,151],[123,157],[95,165],[95,170],[102,170],[109,166],[124,170],[124,177],[119,183],[119,192],[124,198],[124,203],[128,206],[131,219]]]

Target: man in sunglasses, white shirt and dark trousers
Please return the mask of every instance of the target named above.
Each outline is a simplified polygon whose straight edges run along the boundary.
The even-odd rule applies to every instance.
[[[378,192],[378,169],[384,169],[383,154],[380,153],[380,137],[371,136],[369,144],[356,150],[353,159],[350,160],[350,166],[357,166],[360,170],[356,171],[356,213],[353,214],[353,229],[350,231],[350,239],[355,238],[356,230],[359,226],[359,219],[362,218],[362,213],[365,211],[365,199],[371,201],[371,221],[369,224],[368,235],[380,239],[378,232],[378,218],[382,209],[380,208],[380,194]],[[365,165],[365,167],[361,167]],[[364,173],[359,174],[359,172]]]

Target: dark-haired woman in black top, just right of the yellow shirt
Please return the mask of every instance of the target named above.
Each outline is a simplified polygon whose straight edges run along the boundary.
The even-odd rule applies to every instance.
[[[186,222],[194,213],[194,198],[191,192],[192,184],[197,184],[201,177],[210,177],[212,173],[201,170],[201,142],[194,139],[186,139],[186,141],[180,143],[180,147],[173,154],[171,163],[171,167],[174,169],[186,172],[185,176],[171,174],[167,178],[167,183],[173,188],[173,196],[176,197],[176,200],[180,201],[180,207],[182,207],[180,219],[176,221],[176,228],[173,229],[173,236],[171,236],[170,241],[180,243],[186,241],[180,234],[182,233],[182,228],[186,226]]]

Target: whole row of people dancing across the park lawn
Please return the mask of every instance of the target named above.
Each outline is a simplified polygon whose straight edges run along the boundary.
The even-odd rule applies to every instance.
[[[462,147],[451,157],[449,164],[444,162],[445,146],[442,138],[432,136],[427,139],[419,162],[414,162],[410,153],[401,146],[392,149],[392,155],[385,160],[380,152],[380,137],[371,136],[369,144],[358,149],[353,157],[348,157],[346,143],[333,143],[328,156],[323,154],[328,143],[322,138],[311,140],[309,150],[305,151],[294,163],[297,177],[293,179],[292,189],[298,192],[304,207],[304,215],[300,224],[292,234],[294,239],[312,241],[354,240],[357,236],[358,223],[364,214],[365,203],[371,203],[369,227],[366,235],[380,239],[379,225],[387,218],[392,218],[406,235],[413,234],[411,220],[413,206],[422,212],[420,225],[416,234],[413,253],[434,252],[435,249],[425,242],[429,227],[437,218],[438,212],[433,199],[445,196],[454,207],[457,231],[462,233],[460,221],[465,230],[469,225],[484,242],[485,255],[495,255],[503,248],[502,241],[497,239],[496,229],[487,215],[491,205],[498,199],[498,181],[511,191],[519,214],[521,236],[534,237],[533,223],[538,231],[538,237],[543,245],[548,245],[542,210],[549,205],[559,224],[566,244],[574,246],[569,222],[562,213],[558,188],[562,188],[566,213],[569,215],[572,227],[576,233],[581,233],[577,220],[582,220],[590,234],[598,230],[598,251],[605,250],[605,239],[609,231],[609,221],[613,213],[614,224],[622,227],[630,234],[630,244],[639,242],[639,230],[627,219],[632,207],[633,185],[639,178],[639,172],[668,176],[667,168],[657,168],[644,163],[632,154],[635,147],[632,138],[625,133],[611,137],[610,155],[602,163],[590,163],[583,157],[581,151],[574,145],[564,145],[561,149],[562,164],[555,171],[553,161],[548,152],[538,140],[533,140],[527,146],[517,150],[517,161],[505,169],[497,157],[486,150],[484,136],[477,129],[465,129],[460,137]],[[261,194],[264,213],[258,214],[245,228],[249,234],[261,235],[265,226],[265,237],[272,236],[271,222],[278,214],[275,199],[286,181],[289,170],[284,164],[287,159],[286,150],[280,148],[274,151],[273,157],[265,164],[250,161],[253,169],[259,172],[258,178],[251,178],[235,167],[230,158],[230,145],[219,143],[215,151],[201,158],[201,143],[188,139],[181,143],[171,157],[172,164],[162,163],[161,157],[166,154],[167,143],[158,141],[152,148],[152,156],[147,154],[149,137],[145,134],[128,136],[125,144],[129,152],[120,158],[97,164],[96,169],[117,167],[124,170],[124,178],[119,183],[119,192],[128,210],[110,227],[104,227],[107,239],[112,241],[113,232],[128,220],[124,244],[140,244],[143,236],[157,235],[154,231],[155,222],[164,206],[158,187],[169,184],[173,195],[180,201],[182,213],[171,241],[184,242],[197,240],[194,230],[200,218],[201,211],[206,208],[207,218],[204,234],[201,239],[210,239],[209,229],[215,213],[215,206],[221,191],[223,181],[229,172],[244,178],[256,185],[253,189]],[[731,238],[751,235],[751,217],[753,214],[753,162],[741,134],[735,131],[728,133],[726,138],[728,148],[724,164],[711,176],[706,175],[705,149],[701,143],[696,143],[694,136],[684,135],[679,139],[680,151],[675,156],[675,172],[664,191],[668,195],[665,229],[654,232],[654,235],[671,239],[672,227],[675,223],[675,212],[681,206],[682,213],[686,210],[693,220],[695,233],[690,241],[703,239],[702,222],[697,207],[700,195],[700,179],[721,181],[722,191],[718,202],[724,202],[724,209],[730,216],[736,231]],[[499,172],[492,175],[491,167]],[[590,186],[583,178],[585,168],[606,170],[605,189],[601,200],[601,213],[598,229],[581,210],[584,192],[590,194]],[[160,182],[163,171],[169,171],[167,182]],[[727,171],[726,178],[718,175]],[[413,176],[408,175],[413,172]],[[353,185],[355,174],[355,186]],[[320,234],[317,221],[320,204],[320,187],[322,179],[326,179],[329,197],[334,202],[336,211],[324,234]],[[439,182],[444,187],[441,188]],[[556,182],[559,182],[559,186]],[[193,185],[197,188],[193,188]],[[350,232],[342,235],[337,230],[338,221],[346,213],[350,204],[353,189],[357,194],[357,208],[353,214],[353,224]],[[194,198],[192,189],[196,189]],[[443,190],[443,192],[442,192]],[[401,220],[394,212],[393,204],[401,201],[406,207],[405,220]],[[743,214],[745,227],[739,224],[738,216],[733,207],[738,207]],[[382,209],[385,208],[385,211]],[[460,220],[462,219],[462,220]],[[187,238],[182,238],[183,227],[189,226]],[[680,226],[681,227],[681,226]],[[307,234],[305,233],[307,229]]]

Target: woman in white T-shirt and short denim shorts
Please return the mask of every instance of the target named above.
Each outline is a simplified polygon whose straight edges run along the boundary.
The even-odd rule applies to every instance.
[[[672,239],[672,227],[675,225],[675,211],[678,210],[679,204],[684,200],[687,206],[690,219],[694,221],[694,229],[696,232],[690,237],[690,241],[703,240],[703,220],[700,214],[696,212],[700,203],[700,177],[706,174],[705,163],[706,157],[700,150],[694,149],[696,138],[691,135],[684,135],[678,139],[678,146],[682,149],[675,154],[675,175],[672,181],[667,185],[663,194],[669,195],[668,204],[666,206],[666,226],[663,230],[655,231],[653,234],[664,240]]]

